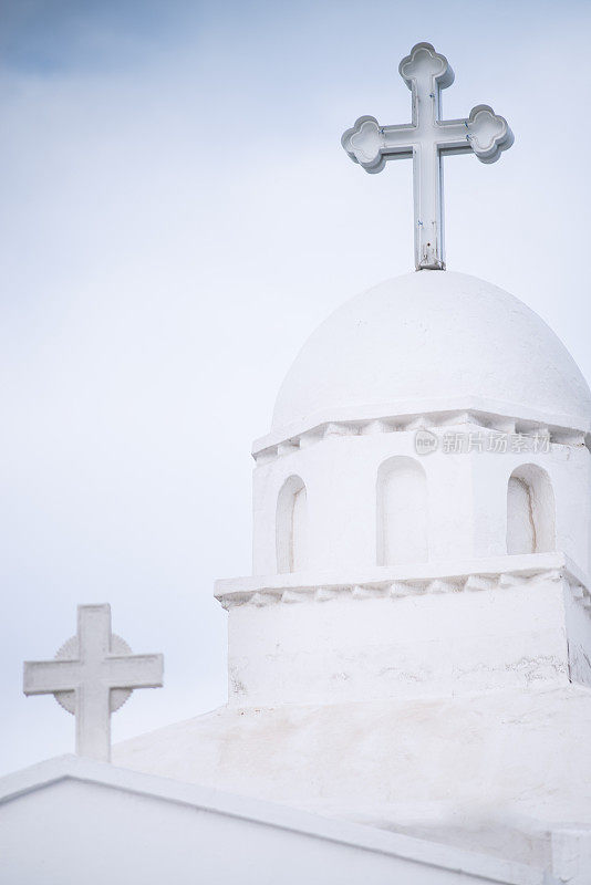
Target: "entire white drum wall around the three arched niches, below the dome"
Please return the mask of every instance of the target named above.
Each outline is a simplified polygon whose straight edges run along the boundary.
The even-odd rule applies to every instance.
[[[437,434],[481,431],[471,425]],[[522,464],[547,470],[556,500],[557,550],[589,570],[590,454],[584,446],[552,445],[549,454],[478,452],[416,455],[414,431],[329,436],[293,449],[253,473],[253,574],[277,572],[276,511],[279,491],[296,473],[307,487],[308,569],[371,568],[376,553],[376,481],[394,456],[415,458],[425,470],[429,560],[507,553],[507,486]]]

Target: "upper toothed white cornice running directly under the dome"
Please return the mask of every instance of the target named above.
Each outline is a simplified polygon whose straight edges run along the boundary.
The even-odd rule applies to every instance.
[[[374,436],[463,425],[490,433],[548,436],[550,445],[587,446],[591,449],[591,434],[584,428],[573,426],[574,421],[557,424],[479,409],[447,409],[396,416],[376,413],[364,419],[320,421],[308,425],[305,429],[300,429],[291,436],[283,436],[281,433],[269,434],[255,441],[252,457],[257,465],[262,466],[284,455],[317,445],[329,437]]]

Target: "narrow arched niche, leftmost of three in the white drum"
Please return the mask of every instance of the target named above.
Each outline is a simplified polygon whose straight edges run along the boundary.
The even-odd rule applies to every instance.
[[[308,562],[308,501],[305,485],[291,476],[277,498],[277,571],[299,572]]]

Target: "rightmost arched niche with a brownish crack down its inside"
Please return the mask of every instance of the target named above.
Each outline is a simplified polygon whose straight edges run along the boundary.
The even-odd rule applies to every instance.
[[[523,464],[507,487],[507,553],[556,550],[556,507],[550,477],[535,464]]]

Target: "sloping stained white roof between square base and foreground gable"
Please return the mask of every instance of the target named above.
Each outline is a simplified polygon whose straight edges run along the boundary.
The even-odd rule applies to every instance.
[[[532,680],[446,698],[224,707],[118,745],[114,759],[547,866],[550,831],[577,822],[591,833],[590,733],[588,689]]]

